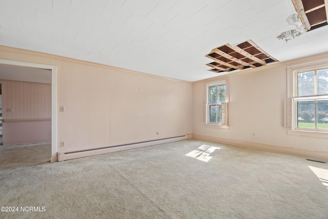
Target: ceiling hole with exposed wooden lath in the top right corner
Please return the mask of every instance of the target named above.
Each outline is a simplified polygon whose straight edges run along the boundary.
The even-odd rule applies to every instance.
[[[292,0],[306,31],[327,25],[328,0]]]

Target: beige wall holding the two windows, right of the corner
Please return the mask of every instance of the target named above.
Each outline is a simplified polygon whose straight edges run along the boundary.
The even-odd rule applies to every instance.
[[[328,138],[290,135],[283,125],[284,100],[288,97],[287,67],[326,56],[302,58],[194,83],[194,137],[328,160]],[[202,104],[206,103],[204,82],[227,77],[230,129],[209,128],[201,119]]]

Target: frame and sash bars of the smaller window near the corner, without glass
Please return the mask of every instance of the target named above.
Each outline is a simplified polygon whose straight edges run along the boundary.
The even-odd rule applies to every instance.
[[[203,110],[203,116],[205,116],[205,120],[203,124],[207,127],[212,128],[223,128],[229,129],[229,113],[228,113],[228,104],[229,104],[229,80],[228,78],[220,79],[219,81],[208,82],[205,83],[206,86],[206,104],[204,104],[205,109]],[[226,86],[226,98],[224,103],[210,104],[210,87],[214,86]],[[219,98],[219,97],[218,97]],[[224,109],[222,110],[222,105]],[[221,123],[210,123],[210,106],[220,106],[221,107]],[[205,112],[204,112],[205,111]],[[225,115],[222,115],[226,113]],[[224,119],[223,119],[224,116]],[[223,123],[222,123],[223,120]]]

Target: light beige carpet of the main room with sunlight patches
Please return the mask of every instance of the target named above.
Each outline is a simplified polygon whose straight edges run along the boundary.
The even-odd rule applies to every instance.
[[[45,207],[0,217],[328,218],[327,169],[191,139],[0,170],[1,206]]]

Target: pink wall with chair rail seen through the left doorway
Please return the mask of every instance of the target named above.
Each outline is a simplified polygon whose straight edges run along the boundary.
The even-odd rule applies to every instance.
[[[51,85],[0,81],[4,145],[51,140]],[[12,112],[7,112],[12,109]]]

